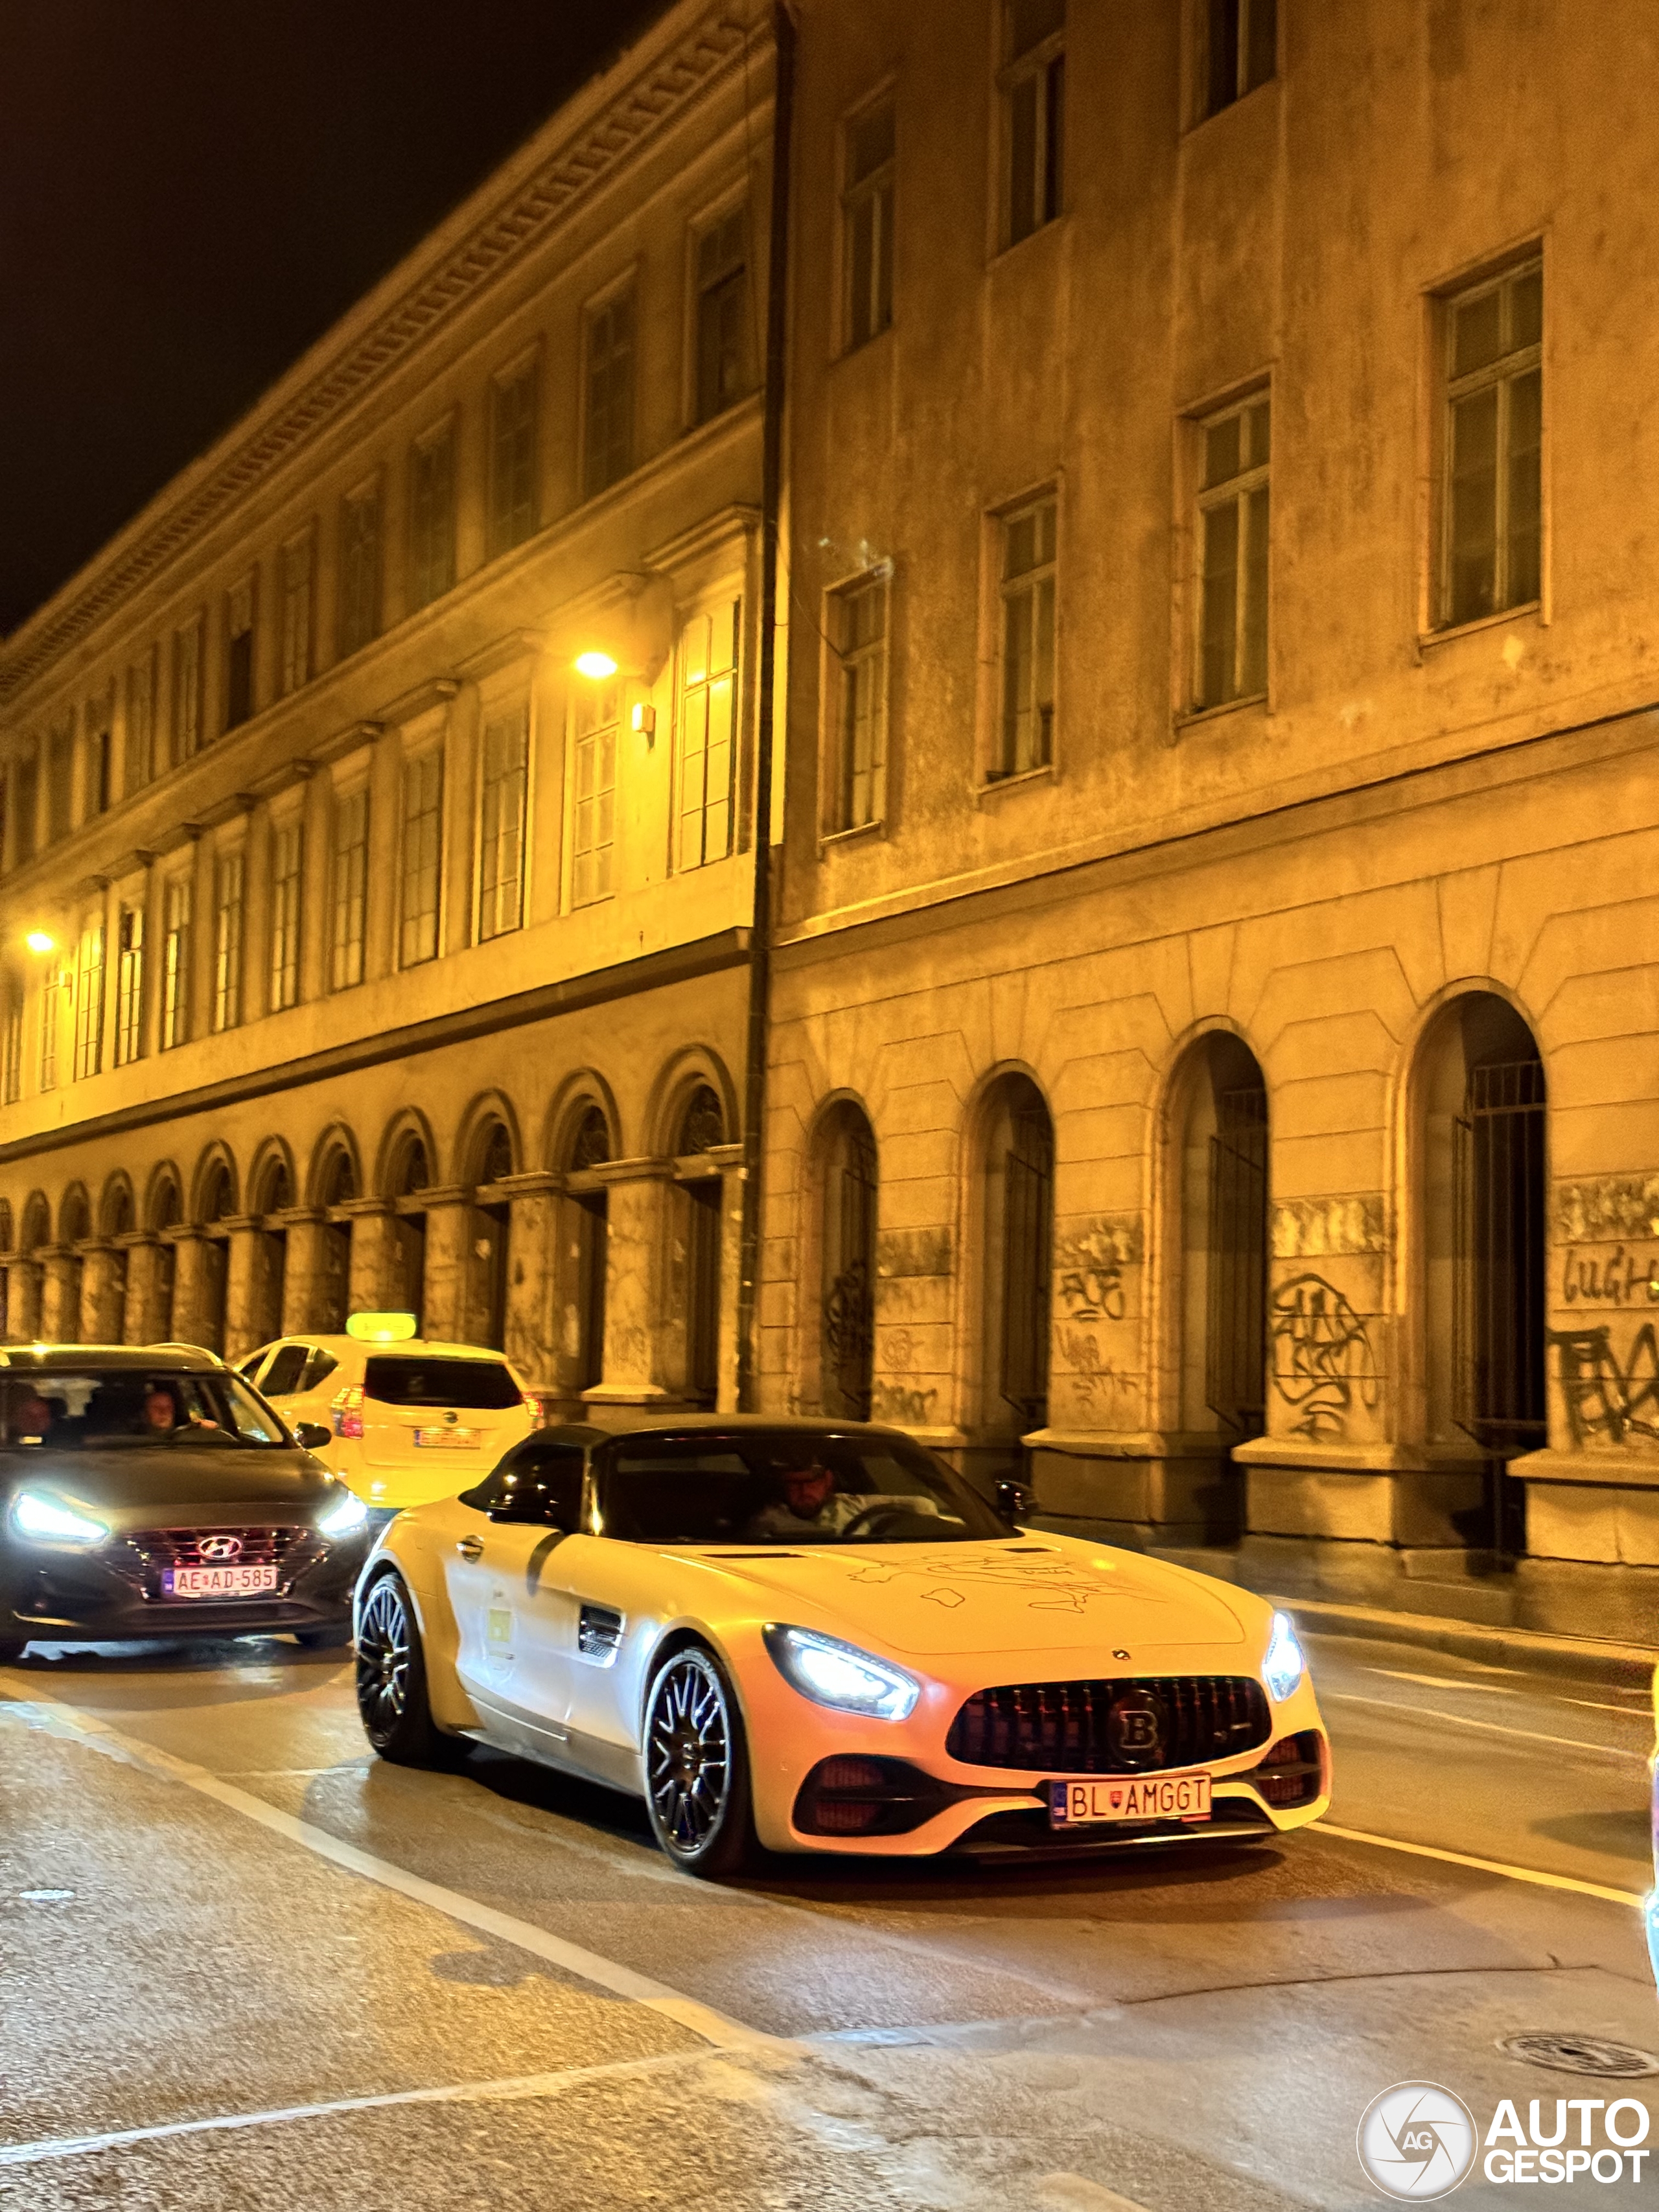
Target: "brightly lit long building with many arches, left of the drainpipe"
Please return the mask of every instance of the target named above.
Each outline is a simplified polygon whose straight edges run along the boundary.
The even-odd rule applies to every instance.
[[[770,115],[666,11],[0,648],[13,1340],[732,1400]]]

